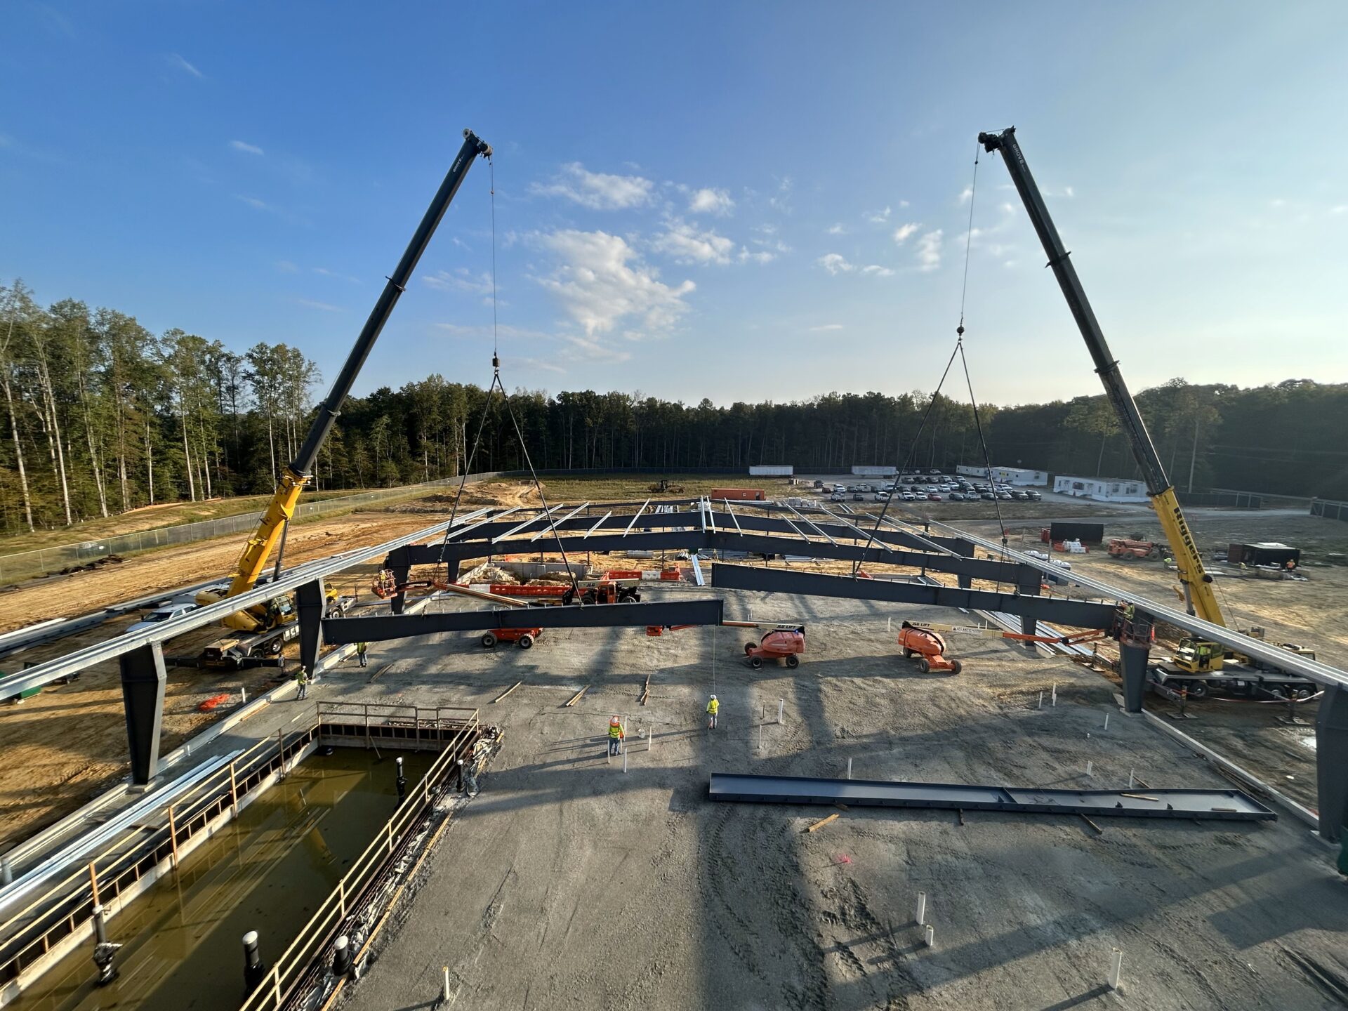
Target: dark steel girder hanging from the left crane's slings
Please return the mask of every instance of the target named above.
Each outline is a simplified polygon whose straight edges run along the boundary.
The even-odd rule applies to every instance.
[[[329,643],[372,643],[435,632],[476,632],[492,628],[640,628],[644,625],[718,625],[724,601],[682,600],[654,604],[586,604],[541,608],[450,611],[437,615],[377,615],[329,617]]]

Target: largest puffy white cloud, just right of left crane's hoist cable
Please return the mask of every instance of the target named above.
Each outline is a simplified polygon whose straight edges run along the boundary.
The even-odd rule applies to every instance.
[[[537,243],[559,260],[539,284],[581,325],[590,344],[594,334],[619,324],[667,330],[687,311],[683,298],[697,288],[692,280],[678,287],[663,283],[624,239],[607,232],[566,229],[537,236]]]

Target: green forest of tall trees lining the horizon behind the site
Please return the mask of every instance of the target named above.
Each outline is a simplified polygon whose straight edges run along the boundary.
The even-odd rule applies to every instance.
[[[226,348],[75,299],[43,307],[0,284],[0,516],[4,531],[59,527],[155,503],[270,492],[322,394],[284,344]],[[1348,497],[1348,384],[1289,379],[1240,388],[1173,379],[1136,394],[1181,489]],[[439,375],[352,398],[319,454],[315,487],[369,488],[458,473],[485,391]],[[716,406],[590,390],[516,390],[487,411],[474,470],[747,468],[981,462],[975,414],[944,394],[821,394]],[[980,404],[993,464],[1136,473],[1104,395]],[[923,427],[923,419],[925,427]],[[921,438],[918,438],[921,430]]]

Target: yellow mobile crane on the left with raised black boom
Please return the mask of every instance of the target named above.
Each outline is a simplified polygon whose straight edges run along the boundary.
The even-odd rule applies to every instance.
[[[454,194],[458,193],[458,187],[464,182],[464,177],[468,175],[469,167],[472,167],[472,163],[479,156],[491,158],[491,154],[492,148],[489,144],[481,140],[476,133],[473,133],[473,131],[464,131],[464,144],[458,150],[454,163],[445,175],[445,181],[435,193],[435,198],[431,201],[425,217],[422,217],[421,224],[417,226],[417,232],[407,244],[407,249],[403,252],[402,260],[398,262],[398,268],[388,278],[388,283],[384,286],[379,301],[375,302],[375,307],[371,310],[369,318],[365,321],[365,326],[361,329],[360,336],[356,338],[356,344],[346,356],[346,363],[342,365],[341,373],[337,376],[332,390],[328,392],[328,398],[319,406],[318,414],[314,418],[313,425],[309,427],[309,434],[305,437],[305,442],[301,446],[299,453],[284,468],[284,470],[282,470],[276,492],[272,495],[271,503],[267,506],[267,511],[263,514],[262,522],[257,524],[257,530],[251,538],[248,538],[248,543],[244,545],[244,550],[239,555],[239,562],[235,565],[235,570],[231,574],[229,589],[224,593],[204,590],[197,594],[198,604],[213,604],[218,600],[251,590],[257,584],[263,570],[267,568],[267,559],[276,547],[278,541],[280,542],[282,555],[284,554],[284,534],[288,528],[291,516],[295,514],[295,506],[299,501],[299,495],[313,477],[314,464],[318,460],[318,450],[328,438],[328,433],[332,431],[333,425],[337,422],[337,415],[341,414],[342,404],[346,400],[346,395],[350,392],[352,384],[356,381],[356,376],[365,364],[365,359],[369,356],[375,341],[384,329],[384,324],[388,322],[388,317],[392,314],[394,306],[398,305],[398,298],[406,290],[407,282],[411,279],[418,260],[421,260],[422,253],[426,251],[426,245],[435,233],[435,226],[439,225],[441,218],[445,216],[450,202],[454,200]],[[280,568],[279,557],[276,559],[276,568],[278,570]],[[264,639],[272,639],[272,636],[268,635],[270,632],[278,632],[279,635],[279,631],[294,620],[295,609],[290,597],[278,596],[264,604],[255,604],[253,607],[235,612],[225,619],[225,624],[241,632],[260,634]],[[243,659],[248,654],[253,652],[259,646],[257,640],[226,643],[228,640],[222,640],[220,644],[216,644],[214,648],[206,648],[205,658],[208,663],[212,661],[237,662],[239,659]],[[279,647],[279,642],[275,642],[275,646]],[[272,652],[275,651],[276,650],[272,650]]]

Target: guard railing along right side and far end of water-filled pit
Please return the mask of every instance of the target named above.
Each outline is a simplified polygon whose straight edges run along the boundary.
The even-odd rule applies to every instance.
[[[376,710],[399,712],[390,714]],[[468,713],[468,717],[454,721],[454,724],[457,724],[457,732],[435,762],[431,763],[426,775],[423,775],[414,790],[408,793],[407,802],[402,803],[394,816],[384,822],[383,828],[375,833],[375,837],[365,848],[365,852],[356,859],[350,871],[348,871],[340,882],[337,882],[337,888],[333,890],[328,899],[318,907],[318,911],[314,913],[309,922],[301,927],[295,940],[290,942],[290,946],[275,961],[266,979],[263,979],[263,981],[257,984],[257,988],[248,995],[248,999],[244,1002],[240,1011],[262,1011],[263,1008],[272,1008],[272,1011],[275,1011],[282,1007],[290,991],[309,972],[322,949],[332,941],[334,931],[346,919],[349,911],[355,909],[360,896],[372,883],[376,882],[388,859],[395,853],[398,847],[406,841],[410,834],[408,829],[411,829],[423,814],[434,807],[441,793],[448,785],[450,770],[456,767],[460,751],[465,743],[473,740],[474,735],[480,729],[480,718],[476,709],[445,706],[421,709],[418,706],[365,705],[361,702],[319,702],[319,725],[324,724],[325,718],[334,717],[338,713],[344,718],[355,718],[356,713],[360,713],[367,728],[390,725],[388,720],[391,718],[411,720],[418,724],[425,718],[427,725],[430,725],[431,721],[434,721],[434,725],[437,727],[454,725],[441,723],[443,717],[439,716],[439,713],[445,712]],[[376,723],[369,723],[371,720],[375,720]],[[375,931],[371,931],[365,938],[361,950],[355,953],[357,961],[364,956],[373,940]]]

